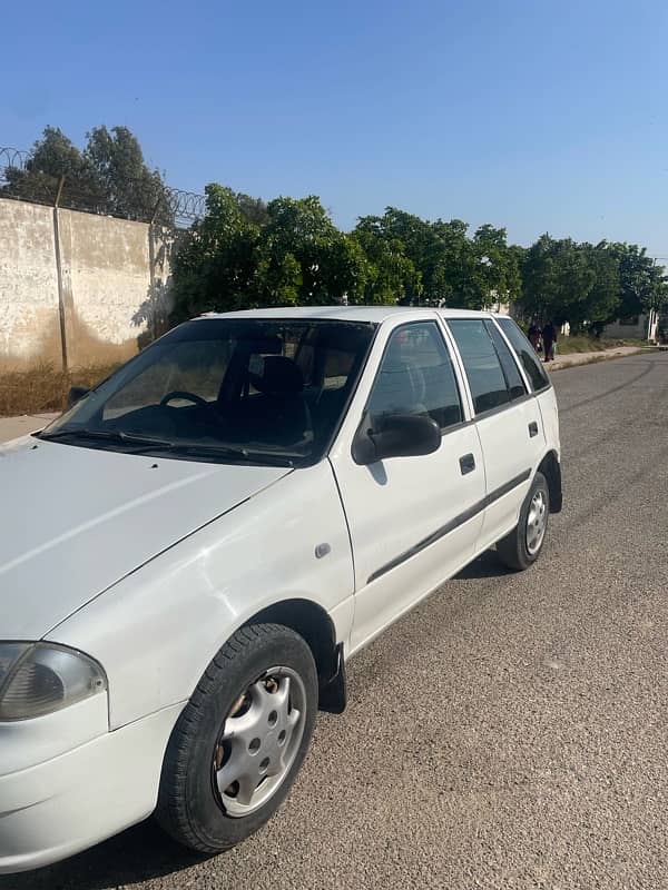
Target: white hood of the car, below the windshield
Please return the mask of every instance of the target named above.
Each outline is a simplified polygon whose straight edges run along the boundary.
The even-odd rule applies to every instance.
[[[0,446],[0,640],[38,640],[287,467],[49,443]]]

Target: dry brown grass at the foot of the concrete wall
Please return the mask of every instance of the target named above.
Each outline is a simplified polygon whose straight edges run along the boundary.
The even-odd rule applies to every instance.
[[[95,386],[118,365],[91,366],[65,373],[52,365],[28,370],[0,370],[0,417],[62,411],[70,386]]]

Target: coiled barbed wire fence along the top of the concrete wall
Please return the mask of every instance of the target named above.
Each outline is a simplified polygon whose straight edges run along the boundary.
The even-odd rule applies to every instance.
[[[67,175],[31,170],[30,152],[0,147],[0,198],[82,210],[100,216],[134,219],[185,229],[200,219],[206,198],[173,188],[156,178],[128,179],[110,194],[97,181],[68,179]]]

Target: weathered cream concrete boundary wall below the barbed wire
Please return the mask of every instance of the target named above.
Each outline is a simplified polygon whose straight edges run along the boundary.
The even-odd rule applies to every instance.
[[[0,199],[0,370],[120,362],[165,329],[174,233]]]

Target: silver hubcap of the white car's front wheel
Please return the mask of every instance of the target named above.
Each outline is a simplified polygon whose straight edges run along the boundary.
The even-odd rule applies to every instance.
[[[214,753],[214,780],[228,815],[263,807],[289,772],[304,735],[306,692],[289,668],[272,668],[233,704]]]

